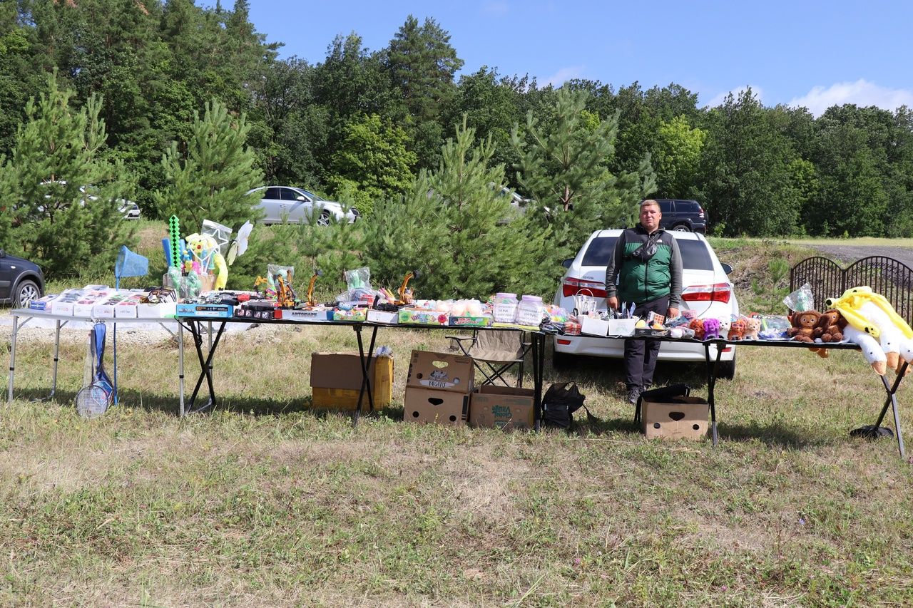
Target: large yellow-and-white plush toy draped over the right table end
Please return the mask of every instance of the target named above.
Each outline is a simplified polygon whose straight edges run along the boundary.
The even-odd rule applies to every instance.
[[[887,367],[892,370],[897,372],[904,362],[913,361],[913,330],[884,296],[874,293],[869,287],[856,287],[847,289],[840,298],[828,299],[826,303],[843,315],[847,322],[846,339],[858,344],[864,354],[872,350],[871,344],[866,346],[868,341],[862,339],[862,335],[867,335],[876,341]],[[876,372],[877,362],[877,359],[870,361]]]

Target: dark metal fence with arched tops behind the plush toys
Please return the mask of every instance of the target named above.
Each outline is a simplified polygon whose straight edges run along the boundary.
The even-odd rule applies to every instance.
[[[913,268],[893,257],[863,257],[846,268],[826,257],[807,257],[790,270],[790,291],[805,283],[812,288],[818,309],[824,309],[825,299],[839,298],[848,288],[867,285],[913,324]]]

